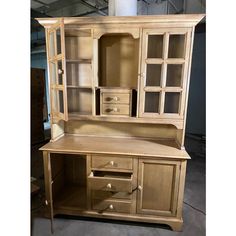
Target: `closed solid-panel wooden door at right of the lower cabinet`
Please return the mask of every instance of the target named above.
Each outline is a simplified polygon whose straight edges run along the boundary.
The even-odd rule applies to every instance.
[[[139,160],[137,213],[176,215],[180,163]]]

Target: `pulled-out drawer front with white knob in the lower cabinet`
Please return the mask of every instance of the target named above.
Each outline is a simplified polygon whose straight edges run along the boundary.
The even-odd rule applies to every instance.
[[[132,176],[130,179],[89,176],[88,182],[91,190],[132,192]]]

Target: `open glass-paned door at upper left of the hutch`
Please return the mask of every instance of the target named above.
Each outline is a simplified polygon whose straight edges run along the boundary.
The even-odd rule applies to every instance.
[[[47,29],[47,58],[50,77],[51,117],[68,120],[65,35],[63,19]]]

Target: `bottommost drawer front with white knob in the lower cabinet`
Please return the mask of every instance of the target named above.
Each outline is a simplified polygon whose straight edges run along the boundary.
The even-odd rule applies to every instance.
[[[112,200],[92,200],[92,209],[99,212],[131,213],[131,202]]]

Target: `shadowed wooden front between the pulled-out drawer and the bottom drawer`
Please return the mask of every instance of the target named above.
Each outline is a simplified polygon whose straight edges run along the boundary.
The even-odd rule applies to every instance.
[[[132,200],[134,193],[127,193],[127,192],[108,192],[108,191],[100,191],[100,190],[93,190],[92,191],[92,198],[93,199],[124,199],[124,200]]]

